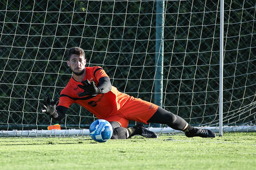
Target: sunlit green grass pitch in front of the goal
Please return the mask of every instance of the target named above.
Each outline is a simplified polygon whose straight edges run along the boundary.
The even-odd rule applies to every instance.
[[[216,138],[135,136],[97,143],[90,137],[0,138],[0,167],[17,169],[255,169],[256,133]]]

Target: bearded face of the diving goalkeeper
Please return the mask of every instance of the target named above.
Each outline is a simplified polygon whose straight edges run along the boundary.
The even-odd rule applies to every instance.
[[[68,66],[72,72],[80,76],[85,72],[86,59],[83,55],[71,55],[70,60],[67,61]]]

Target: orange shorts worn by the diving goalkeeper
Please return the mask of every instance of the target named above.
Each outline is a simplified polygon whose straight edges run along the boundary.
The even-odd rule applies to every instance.
[[[129,120],[148,124],[147,121],[154,115],[158,107],[148,101],[129,96],[123,106],[105,120],[118,122],[124,128],[127,128]]]

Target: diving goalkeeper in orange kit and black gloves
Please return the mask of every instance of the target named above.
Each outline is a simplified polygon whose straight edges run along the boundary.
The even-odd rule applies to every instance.
[[[98,119],[111,123],[111,139],[127,139],[134,135],[157,138],[157,134],[147,130],[143,124],[127,128],[129,120],[145,124],[167,124],[173,129],[185,132],[187,137],[216,137],[213,131],[194,128],[183,118],[153,103],[119,92],[111,85],[110,78],[101,67],[85,67],[85,53],[81,48],[69,49],[67,65],[73,76],[62,90],[60,99],[56,98],[51,102],[50,96],[47,96],[41,103],[41,113],[57,121],[65,116],[71,104],[77,103]]]

